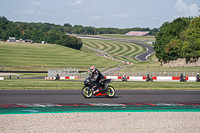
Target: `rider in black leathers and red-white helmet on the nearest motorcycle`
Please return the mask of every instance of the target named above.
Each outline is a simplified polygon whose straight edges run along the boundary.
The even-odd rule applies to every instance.
[[[91,79],[93,81],[93,86],[94,86],[93,94],[96,94],[100,91],[99,90],[100,82],[103,81],[105,77],[101,74],[101,72],[95,66],[90,67],[90,72],[92,73]]]

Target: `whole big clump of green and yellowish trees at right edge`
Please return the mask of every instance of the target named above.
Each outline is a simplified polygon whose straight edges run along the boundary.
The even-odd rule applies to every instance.
[[[177,18],[160,27],[154,45],[159,61],[200,57],[200,17]]]

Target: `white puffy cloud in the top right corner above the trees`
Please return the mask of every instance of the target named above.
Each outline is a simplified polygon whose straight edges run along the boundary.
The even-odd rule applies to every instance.
[[[181,16],[198,16],[199,7],[197,4],[187,5],[183,0],[177,0],[175,8]]]

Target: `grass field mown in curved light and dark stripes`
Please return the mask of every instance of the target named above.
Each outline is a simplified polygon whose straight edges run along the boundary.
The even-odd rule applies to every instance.
[[[146,51],[144,47],[128,42],[98,39],[82,39],[82,41],[86,46],[107,52],[110,57],[132,63],[139,63],[134,57]]]

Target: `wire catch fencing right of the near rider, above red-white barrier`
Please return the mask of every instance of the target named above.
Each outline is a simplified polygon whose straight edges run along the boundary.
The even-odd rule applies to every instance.
[[[115,71],[107,71],[105,76],[146,76],[148,73],[152,76],[196,76],[199,73],[200,66],[195,67],[161,67],[161,66],[127,66],[125,68],[118,67]]]

